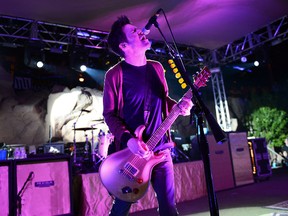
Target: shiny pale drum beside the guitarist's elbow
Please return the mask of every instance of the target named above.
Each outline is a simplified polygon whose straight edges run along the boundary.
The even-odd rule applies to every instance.
[[[113,142],[114,136],[108,132],[105,134],[104,131],[100,130],[98,134],[98,146],[97,154],[101,158],[106,158],[108,155],[109,145]]]

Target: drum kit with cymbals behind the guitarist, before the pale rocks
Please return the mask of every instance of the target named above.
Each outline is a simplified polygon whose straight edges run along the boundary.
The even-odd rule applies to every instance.
[[[114,141],[114,136],[109,132],[105,132],[104,129],[97,128],[97,125],[103,125],[104,120],[92,120],[96,122],[96,124],[91,125],[91,127],[79,127],[76,128],[76,124],[73,125],[73,162],[75,166],[82,167],[83,160],[79,161],[79,151],[77,151],[77,142],[76,142],[76,132],[83,131],[85,136],[85,147],[83,152],[83,159],[88,160],[89,162],[92,160],[92,165],[97,166],[102,160],[104,160],[108,156],[108,148]],[[98,130],[97,140],[95,140],[95,131]],[[91,131],[91,142],[89,141],[87,131]],[[91,145],[91,151],[90,150]]]

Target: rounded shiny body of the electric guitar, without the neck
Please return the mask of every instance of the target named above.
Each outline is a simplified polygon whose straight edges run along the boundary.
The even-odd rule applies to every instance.
[[[152,154],[149,158],[134,155],[128,148],[109,155],[99,168],[106,189],[118,199],[136,202],[146,193],[153,167],[168,155]]]

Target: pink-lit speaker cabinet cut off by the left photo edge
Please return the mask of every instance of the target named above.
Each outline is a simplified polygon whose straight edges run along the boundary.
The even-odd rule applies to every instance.
[[[9,176],[11,175],[11,163],[9,161],[0,162],[0,215],[9,215],[10,199],[11,199],[11,182]]]

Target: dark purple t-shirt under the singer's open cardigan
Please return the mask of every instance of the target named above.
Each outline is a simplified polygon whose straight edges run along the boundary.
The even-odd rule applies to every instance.
[[[162,123],[163,84],[152,65],[137,67],[123,61],[121,66],[123,70],[124,121],[130,132],[134,133],[138,126],[145,125],[144,107],[146,110],[150,110],[143,133],[143,140],[147,141]],[[145,102],[145,98],[148,98],[148,103]],[[167,138],[164,137],[160,143],[166,141]]]

